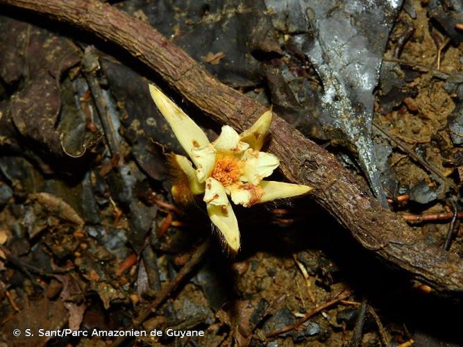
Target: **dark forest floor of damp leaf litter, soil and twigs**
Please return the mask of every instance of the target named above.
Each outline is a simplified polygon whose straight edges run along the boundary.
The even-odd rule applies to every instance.
[[[419,242],[463,257],[463,22],[449,32],[461,15],[453,2],[405,1],[384,24],[380,73],[366,78],[376,78],[369,140],[389,208]],[[174,3],[112,6],[273,105],[374,192],[361,151],[324,113],[326,76],[301,48],[318,13],[278,1]],[[182,149],[149,97],[146,67],[70,26],[1,13],[0,346],[461,346],[461,297],[378,259],[310,196],[237,208],[242,248],[227,253],[201,199],[187,208],[171,196],[165,154]],[[217,136],[219,124],[187,109]],[[39,334],[65,328],[90,335]],[[131,329],[162,336],[104,335]]]

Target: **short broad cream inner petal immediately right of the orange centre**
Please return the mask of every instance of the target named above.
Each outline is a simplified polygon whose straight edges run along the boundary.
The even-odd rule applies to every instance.
[[[280,161],[275,155],[247,149],[242,156],[242,180],[258,185],[262,178],[268,177],[278,167]]]

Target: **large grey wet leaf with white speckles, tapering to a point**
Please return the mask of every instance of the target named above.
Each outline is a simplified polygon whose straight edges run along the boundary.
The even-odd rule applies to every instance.
[[[276,10],[287,13],[294,2],[303,6],[300,1],[288,0],[286,6],[279,4]],[[344,6],[336,6],[336,1],[306,1],[303,8],[310,29],[292,37],[292,44],[308,58],[320,78],[322,90],[316,102],[323,130],[356,153],[371,190],[385,206],[371,139],[373,90],[400,6],[401,1],[359,0]]]

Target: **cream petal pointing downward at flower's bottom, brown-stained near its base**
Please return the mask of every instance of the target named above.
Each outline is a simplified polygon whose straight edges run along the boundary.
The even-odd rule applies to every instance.
[[[226,206],[208,203],[209,218],[217,226],[228,247],[235,253],[239,250],[239,228],[230,203]]]

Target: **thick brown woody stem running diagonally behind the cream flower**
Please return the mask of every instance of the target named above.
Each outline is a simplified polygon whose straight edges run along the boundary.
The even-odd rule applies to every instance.
[[[0,0],[0,3],[49,15],[117,44],[220,123],[242,130],[264,112],[257,101],[219,83],[149,24],[107,3],[97,0]],[[362,246],[436,289],[463,291],[460,257],[417,242],[420,237],[414,235],[400,216],[381,208],[362,192],[355,178],[332,154],[280,117],[275,117],[271,135],[269,151],[281,159],[283,174],[292,182],[314,187],[314,200]]]

